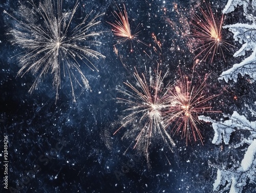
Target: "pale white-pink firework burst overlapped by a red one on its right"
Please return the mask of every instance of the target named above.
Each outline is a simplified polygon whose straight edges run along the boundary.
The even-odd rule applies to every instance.
[[[136,137],[134,148],[137,145],[140,147],[142,144],[147,156],[151,138],[156,137],[157,134],[160,134],[167,144],[166,137],[172,145],[175,145],[162,122],[163,114],[168,107],[167,90],[163,88],[162,82],[167,73],[163,77],[161,77],[161,71],[157,71],[155,77],[152,77],[151,74],[150,69],[150,84],[148,85],[144,74],[140,76],[135,69],[136,84],[124,82],[129,90],[118,89],[124,95],[124,98],[117,98],[118,102],[128,106],[124,110],[128,115],[122,119],[123,125],[114,133],[116,134],[129,123],[136,124],[132,132],[133,134],[139,134]],[[136,123],[137,119],[139,119],[138,123]]]

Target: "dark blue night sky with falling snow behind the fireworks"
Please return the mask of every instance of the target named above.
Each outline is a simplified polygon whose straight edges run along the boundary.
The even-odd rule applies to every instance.
[[[38,5],[39,1],[34,2]],[[154,73],[157,68],[163,73],[168,72],[164,85],[175,84],[180,79],[179,72],[189,78],[193,74],[196,86],[208,75],[203,92],[206,96],[218,96],[207,101],[207,105],[212,106],[212,111],[222,113],[202,115],[220,121],[225,119],[224,114],[237,111],[249,121],[255,121],[245,108],[245,104],[256,101],[256,84],[249,81],[250,77],[239,75],[237,82],[218,80],[223,71],[242,59],[232,57],[240,48],[239,43],[233,41],[232,33],[223,30],[225,39],[234,46],[223,49],[226,61],[217,53],[211,62],[210,55],[200,61],[193,72],[196,59],[201,59],[204,54],[195,58],[200,49],[193,52],[204,44],[193,36],[193,18],[199,10],[198,5],[206,8],[206,4],[193,0],[78,2],[71,24],[73,28],[92,10],[89,19],[105,13],[98,19],[101,23],[92,29],[101,32],[93,37],[101,44],[92,45],[92,49],[105,58],[91,59],[99,72],[80,62],[80,69],[92,91],[75,83],[76,102],[68,76],[61,76],[56,100],[51,70],[40,78],[36,89],[28,93],[37,74],[27,72],[17,76],[21,68],[19,56],[24,49],[11,43],[13,37],[8,33],[17,22],[4,13],[6,10],[16,16],[20,4],[15,0],[0,3],[0,146],[3,151],[4,136],[8,136],[9,161],[9,189],[4,188],[1,180],[0,192],[212,192],[218,166],[224,162],[231,164],[233,159],[242,160],[244,152],[233,145],[240,140],[239,136],[246,136],[246,132],[241,134],[239,131],[241,135],[234,132],[229,145],[215,145],[211,143],[214,137],[211,124],[202,122],[198,128],[203,145],[199,138],[197,141],[191,138],[186,145],[180,133],[173,136],[170,125],[168,131],[176,143],[173,151],[162,138],[153,137],[147,159],[142,149],[133,149],[136,135],[125,135],[126,131],[133,133],[133,123],[113,135],[122,125],[127,108],[125,104],[117,103],[116,98],[122,97],[117,89],[127,89],[123,83],[126,81],[136,85],[135,67],[140,75],[144,73],[146,76],[150,69]],[[75,3],[63,1],[62,12],[73,9]],[[113,13],[118,12],[118,8],[122,10],[123,5],[131,30],[138,26],[139,33],[132,42],[118,44],[109,23],[116,20]],[[212,10],[219,16],[225,5],[226,1],[210,2]],[[238,8],[227,14],[225,24],[244,22],[241,12]],[[26,22],[25,12],[23,16],[20,19]],[[161,49],[154,41],[153,33],[161,43]],[[4,168],[3,152],[0,158],[1,168]],[[1,171],[1,179],[3,174]],[[255,184],[248,184],[243,192],[255,192],[255,188]]]

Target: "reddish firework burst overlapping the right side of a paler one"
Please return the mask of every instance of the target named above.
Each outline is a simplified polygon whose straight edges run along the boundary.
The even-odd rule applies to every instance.
[[[206,97],[203,94],[205,81],[206,78],[199,87],[196,87],[192,86],[192,80],[189,81],[187,76],[184,80],[181,75],[181,80],[177,82],[174,91],[169,91],[170,106],[165,122],[167,125],[176,122],[173,128],[173,131],[175,130],[174,134],[182,131],[181,137],[186,138],[186,145],[190,140],[190,132],[192,132],[195,141],[197,141],[196,134],[198,134],[203,144],[203,137],[197,126],[197,123],[201,123],[198,115],[203,112],[218,112],[210,111],[211,106],[205,104],[208,100],[218,96]]]

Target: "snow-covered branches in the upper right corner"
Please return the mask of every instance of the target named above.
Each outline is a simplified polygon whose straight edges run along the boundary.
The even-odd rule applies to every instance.
[[[244,56],[247,52],[250,56],[244,58],[240,63],[236,63],[232,68],[223,72],[220,79],[226,82],[229,79],[237,81],[238,74],[242,76],[248,74],[252,81],[256,80],[256,1],[252,0],[229,0],[223,13],[230,13],[238,6],[243,6],[244,16],[250,24],[237,23],[226,25],[223,28],[228,28],[234,35],[233,38],[242,45],[241,48],[234,53],[234,57]]]

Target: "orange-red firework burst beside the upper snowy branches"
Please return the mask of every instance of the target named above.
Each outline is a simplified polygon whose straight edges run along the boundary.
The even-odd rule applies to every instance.
[[[224,24],[224,15],[222,14],[221,18],[218,17],[218,15],[214,14],[212,12],[212,9],[210,5],[206,6],[207,9],[203,10],[200,8],[200,12],[202,14],[202,17],[200,17],[198,14],[195,14],[195,22],[196,24],[193,24],[195,27],[194,36],[196,36],[198,39],[202,40],[204,42],[204,45],[197,48],[196,50],[200,49],[200,53],[196,55],[196,57],[200,55],[204,55],[202,60],[206,60],[207,57],[212,54],[211,56],[211,62],[214,59],[215,54],[220,54],[224,57],[224,52],[222,48],[224,47],[226,50],[229,51],[228,47],[232,46],[230,45],[226,40],[222,37],[222,26]],[[195,51],[196,51],[195,50]],[[225,60],[226,61],[226,60]]]

